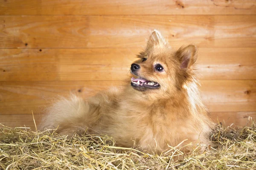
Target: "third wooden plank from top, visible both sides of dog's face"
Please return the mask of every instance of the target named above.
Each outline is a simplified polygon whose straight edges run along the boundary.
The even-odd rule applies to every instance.
[[[142,48],[2,49],[0,81],[122,80]],[[256,79],[256,48],[199,48],[200,79]]]

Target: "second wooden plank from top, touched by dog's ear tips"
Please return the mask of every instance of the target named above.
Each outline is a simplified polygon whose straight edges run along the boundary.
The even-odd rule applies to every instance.
[[[0,48],[138,48],[154,28],[173,47],[256,45],[251,15],[0,16]]]

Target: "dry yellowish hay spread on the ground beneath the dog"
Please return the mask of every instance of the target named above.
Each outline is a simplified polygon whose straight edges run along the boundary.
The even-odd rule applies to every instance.
[[[183,161],[172,161],[172,154],[182,154],[170,148],[169,155],[151,155],[136,149],[113,145],[108,136],[58,136],[49,132],[34,132],[26,127],[0,130],[0,169],[3,170],[137,170],[179,169],[219,170],[256,169],[256,123],[234,129],[218,125],[211,135],[212,146],[201,152],[200,147]]]

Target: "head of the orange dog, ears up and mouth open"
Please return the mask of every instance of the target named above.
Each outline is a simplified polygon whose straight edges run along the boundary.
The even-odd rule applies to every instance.
[[[169,94],[181,89],[193,76],[191,66],[197,59],[194,45],[174,51],[159,31],[154,30],[145,50],[131,64],[131,86],[145,93]]]

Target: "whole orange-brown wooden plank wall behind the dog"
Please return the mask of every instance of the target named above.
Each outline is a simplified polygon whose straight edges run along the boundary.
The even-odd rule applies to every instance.
[[[52,97],[121,84],[154,28],[198,45],[215,122],[256,119],[256,0],[0,0],[0,123],[34,127]]]

